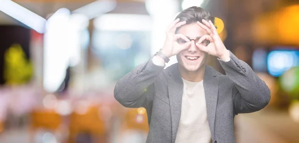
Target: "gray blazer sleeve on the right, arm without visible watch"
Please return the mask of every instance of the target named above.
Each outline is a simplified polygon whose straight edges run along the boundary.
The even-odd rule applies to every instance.
[[[251,67],[230,52],[230,61],[218,59],[226,75],[233,81],[232,95],[235,114],[251,113],[266,107],[270,89]]]

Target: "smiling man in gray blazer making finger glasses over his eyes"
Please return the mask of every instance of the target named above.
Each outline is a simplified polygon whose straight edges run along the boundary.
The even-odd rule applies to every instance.
[[[123,106],[147,109],[147,143],[235,143],[235,115],[269,103],[268,86],[226,49],[214,19],[200,7],[183,10],[163,48],[116,84]],[[178,63],[164,70],[174,55]],[[206,65],[208,55],[218,57],[226,75]]]

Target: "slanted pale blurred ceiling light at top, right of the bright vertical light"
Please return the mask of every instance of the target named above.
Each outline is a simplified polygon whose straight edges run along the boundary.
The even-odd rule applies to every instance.
[[[86,15],[88,19],[93,19],[103,13],[113,10],[116,7],[116,4],[116,0],[96,0],[72,12],[80,13]]]

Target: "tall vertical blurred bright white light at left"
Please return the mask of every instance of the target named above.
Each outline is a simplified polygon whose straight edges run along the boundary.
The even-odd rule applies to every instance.
[[[68,37],[70,11],[58,9],[47,21],[44,34],[43,87],[55,92],[64,80],[69,64]]]

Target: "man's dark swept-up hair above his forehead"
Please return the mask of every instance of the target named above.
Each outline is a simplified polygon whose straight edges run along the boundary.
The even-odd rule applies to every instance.
[[[202,19],[209,21],[211,20],[215,24],[215,17],[211,16],[210,13],[198,6],[189,7],[181,11],[175,19],[179,18],[179,21],[186,21],[186,24],[192,24],[199,21],[202,23]],[[217,28],[217,27],[216,27]]]

